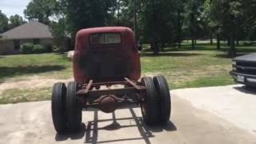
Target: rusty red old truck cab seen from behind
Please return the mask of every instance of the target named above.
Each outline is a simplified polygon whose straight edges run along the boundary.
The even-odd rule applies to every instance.
[[[74,79],[79,84],[141,77],[140,58],[132,30],[100,27],[78,31],[74,52]]]

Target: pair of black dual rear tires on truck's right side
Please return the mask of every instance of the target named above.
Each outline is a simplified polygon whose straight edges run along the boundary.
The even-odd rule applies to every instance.
[[[146,86],[146,96],[141,104],[142,117],[146,125],[165,125],[170,120],[170,90],[166,78],[162,76],[142,78]]]

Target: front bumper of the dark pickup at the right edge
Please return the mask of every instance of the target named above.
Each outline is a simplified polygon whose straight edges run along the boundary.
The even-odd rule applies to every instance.
[[[230,71],[230,75],[234,78],[235,82],[246,86],[256,86],[256,75],[241,74],[234,70]]]

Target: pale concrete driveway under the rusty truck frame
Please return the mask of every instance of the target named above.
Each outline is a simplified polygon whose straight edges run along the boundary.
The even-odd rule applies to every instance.
[[[0,106],[0,143],[256,143],[256,92],[242,86],[173,90],[167,126],[148,127],[139,108],[83,112],[78,134],[54,131],[50,102]]]

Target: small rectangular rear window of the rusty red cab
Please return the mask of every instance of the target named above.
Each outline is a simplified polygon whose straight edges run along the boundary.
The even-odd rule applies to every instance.
[[[90,45],[108,45],[120,43],[121,34],[119,33],[90,34]]]

